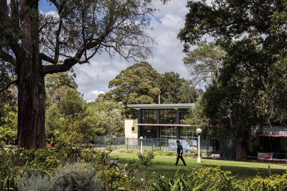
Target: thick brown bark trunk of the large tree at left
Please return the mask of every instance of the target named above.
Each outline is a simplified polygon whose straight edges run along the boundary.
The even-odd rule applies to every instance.
[[[32,9],[34,8],[34,9]],[[17,63],[18,147],[38,149],[46,146],[45,83],[39,58],[37,0],[22,0],[22,55]]]

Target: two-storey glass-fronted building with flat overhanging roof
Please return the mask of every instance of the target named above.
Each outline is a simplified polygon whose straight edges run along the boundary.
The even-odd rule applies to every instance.
[[[189,109],[195,104],[140,104],[127,105],[138,110],[138,121],[133,123],[132,132],[138,137],[161,138],[162,146],[168,146],[169,139],[196,138],[196,127],[182,124],[190,116]],[[132,122],[130,122],[132,123]]]

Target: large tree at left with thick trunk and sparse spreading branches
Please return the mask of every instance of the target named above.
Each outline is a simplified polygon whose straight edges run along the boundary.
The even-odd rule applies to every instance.
[[[0,92],[18,85],[18,147],[25,149],[46,145],[46,74],[68,71],[103,52],[143,60],[153,43],[146,31],[154,9],[147,1],[49,0],[55,15],[41,14],[38,3],[0,0],[0,64],[16,73],[9,73]]]

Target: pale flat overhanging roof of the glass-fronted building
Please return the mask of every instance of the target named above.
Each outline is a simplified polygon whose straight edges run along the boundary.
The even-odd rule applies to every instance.
[[[133,109],[190,109],[195,104],[130,104],[128,108]]]

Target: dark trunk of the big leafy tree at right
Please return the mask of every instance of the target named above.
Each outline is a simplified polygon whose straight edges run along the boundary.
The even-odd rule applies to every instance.
[[[237,142],[237,152],[236,161],[247,161],[248,158],[248,139],[250,136],[251,125],[240,128],[237,131],[238,142]]]

